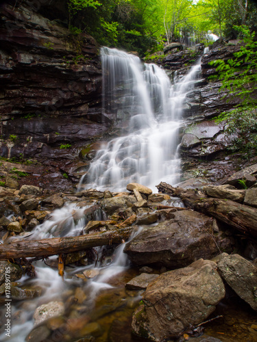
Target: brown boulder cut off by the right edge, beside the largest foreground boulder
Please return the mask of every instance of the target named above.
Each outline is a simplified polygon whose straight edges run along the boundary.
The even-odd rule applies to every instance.
[[[238,254],[222,253],[219,273],[236,294],[257,311],[257,267]]]

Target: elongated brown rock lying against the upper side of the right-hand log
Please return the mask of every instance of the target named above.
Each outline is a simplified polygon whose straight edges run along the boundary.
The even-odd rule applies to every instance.
[[[245,190],[229,189],[228,185],[219,185],[217,187],[208,185],[204,187],[204,191],[210,197],[228,198],[228,200],[234,200],[239,203],[242,203],[245,197]]]

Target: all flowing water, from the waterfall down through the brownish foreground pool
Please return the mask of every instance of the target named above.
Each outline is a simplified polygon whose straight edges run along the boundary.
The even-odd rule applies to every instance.
[[[108,114],[117,114],[118,126],[123,128],[123,135],[111,140],[99,150],[80,187],[87,182],[85,187],[117,191],[125,189],[131,181],[151,188],[159,181],[171,184],[178,182],[178,129],[186,94],[193,88],[199,64],[180,81],[178,77],[174,77],[175,84],[171,85],[164,71],[154,64],[142,65],[138,57],[115,49],[104,48],[102,53],[103,102],[107,103],[105,110]],[[79,235],[88,220],[104,220],[101,216],[103,213],[95,209],[88,211],[94,204],[88,201],[88,206],[85,207],[84,204],[84,207],[79,207],[75,203],[68,203],[62,209],[56,209],[48,220],[32,231],[29,239]],[[86,215],[88,217],[85,217]],[[12,337],[6,337],[5,332],[1,330],[0,340],[24,342],[30,332],[32,341],[39,341],[43,334],[49,336],[51,330],[51,337],[46,336],[46,341],[55,341],[57,335],[54,334],[59,334],[60,337],[56,341],[75,341],[84,337],[87,331],[97,329],[98,324],[106,325],[106,332],[97,341],[108,341],[110,324],[113,325],[115,319],[119,321],[120,317],[121,321],[124,321],[125,315],[125,326],[130,335],[130,317],[134,305],[139,301],[138,293],[135,296],[125,293],[125,280],[123,283],[119,282],[118,287],[115,282],[115,286],[112,283],[117,274],[128,268],[127,257],[123,254],[124,246],[125,244],[119,246],[115,250],[115,256],[110,257],[109,261],[98,261],[95,265],[79,268],[66,266],[64,279],[58,276],[57,269],[38,261],[35,264],[36,278],[30,280],[23,276],[20,282],[26,287],[36,287],[42,294],[39,298],[26,299],[15,305],[13,302]],[[96,253],[97,259],[103,260],[103,248],[96,249]],[[54,259],[56,257],[49,258],[46,264],[56,263]],[[76,278],[77,274],[81,276],[83,272],[92,269],[99,273],[95,278],[87,281]],[[132,277],[130,275],[129,278]],[[110,292],[112,300],[119,298],[120,302],[116,306],[112,306],[112,302],[109,305],[106,302],[102,304],[99,293],[102,293],[103,289],[107,296],[108,291]],[[69,300],[68,304],[66,301],[73,295],[78,298],[78,303],[69,308]],[[35,328],[35,309],[50,301],[66,303],[64,315],[59,320],[49,321]],[[129,314],[127,311],[130,311]],[[111,315],[112,320],[109,320],[108,316]],[[92,321],[93,323],[90,323]],[[60,326],[56,328],[55,324]],[[115,325],[113,330],[117,330]],[[121,341],[124,334],[124,328],[119,326],[118,330],[120,335],[115,341]],[[94,330],[94,333],[98,332]],[[126,341],[134,340],[128,337]]]

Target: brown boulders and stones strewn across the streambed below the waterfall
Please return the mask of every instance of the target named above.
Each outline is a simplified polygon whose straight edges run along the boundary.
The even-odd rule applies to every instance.
[[[256,227],[256,174],[257,166],[254,164],[234,174],[227,184],[207,185],[190,191],[199,196],[198,201],[200,198],[201,204],[215,200],[217,213],[218,202],[222,200],[232,202],[236,208],[241,206],[241,211],[251,211],[252,226]],[[241,182],[238,181],[248,182],[250,188],[240,189]],[[55,228],[49,229],[48,237],[58,236],[65,239],[65,235],[71,235],[72,241],[90,241],[97,235],[101,242],[95,242],[95,246],[101,246],[106,244],[103,236],[108,234],[110,247],[115,247],[117,233],[120,234],[121,241],[130,235],[126,233],[123,236],[125,229],[132,232],[143,227],[143,231],[126,244],[124,250],[132,266],[140,269],[140,275],[130,279],[125,285],[127,291],[143,291],[142,300],[132,319],[133,334],[150,341],[184,341],[185,336],[195,337],[198,330],[199,334],[202,331],[197,330],[197,327],[199,328],[201,323],[215,312],[217,304],[225,296],[228,297],[230,291],[234,291],[237,298],[247,303],[252,315],[256,312],[256,230],[252,228],[245,231],[243,221],[236,223],[238,227],[235,226],[232,217],[237,215],[236,209],[234,213],[228,213],[231,218],[229,222],[225,215],[215,215],[215,212],[206,215],[200,212],[203,205],[192,210],[188,206],[187,195],[181,196],[181,200],[173,198],[170,194],[152,194],[151,189],[136,183],[127,186],[128,192],[111,193],[90,189],[70,194],[49,194],[47,190],[43,191],[33,185],[22,185],[16,189],[14,185],[0,189],[0,224],[3,241],[0,246],[1,301],[4,300],[5,267],[11,269],[11,293],[14,300],[28,300],[42,294],[42,289],[21,288],[17,283],[25,273],[29,276],[34,275],[32,261],[35,258],[26,259],[32,256],[28,254],[29,248],[23,250],[23,258],[13,255],[8,257],[10,261],[4,260],[4,252],[19,251],[23,244],[29,246],[33,245],[35,240],[40,241],[40,234],[33,231],[35,226],[51,220],[53,209],[62,208],[65,203],[73,202],[74,208],[82,210],[78,214],[78,211],[73,209],[69,218],[60,218]],[[180,188],[174,189],[178,192]],[[184,189],[184,194],[186,191],[188,190]],[[71,220],[76,222],[80,218],[85,219],[82,231],[76,234],[72,231],[69,234],[73,225]],[[52,267],[59,266],[60,272],[61,254],[58,249],[47,253],[46,250],[45,255],[59,254],[59,261],[56,260]],[[35,251],[34,257],[37,257],[37,254],[40,257],[40,247],[38,253]],[[92,255],[92,248],[85,249],[79,246],[72,253],[62,253],[61,263],[75,263],[77,266],[84,265],[85,262],[95,263]],[[86,280],[98,274],[99,272],[94,273],[92,269],[89,273],[87,271],[78,276]],[[37,322],[34,330],[45,326],[53,316],[62,317],[64,308],[58,310],[59,304],[53,306],[53,313],[46,309],[45,319]],[[256,326],[252,326],[248,327],[248,341],[255,341],[257,336],[254,328]],[[27,341],[38,341],[33,337],[38,336],[38,332],[34,330],[27,337]],[[51,334],[53,330],[50,329],[48,336]]]

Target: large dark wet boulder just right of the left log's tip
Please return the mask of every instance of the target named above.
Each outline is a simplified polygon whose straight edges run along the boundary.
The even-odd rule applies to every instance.
[[[176,211],[174,218],[146,227],[124,249],[136,265],[184,267],[219,252],[212,239],[212,220],[195,211]],[[209,233],[208,233],[209,232]]]

